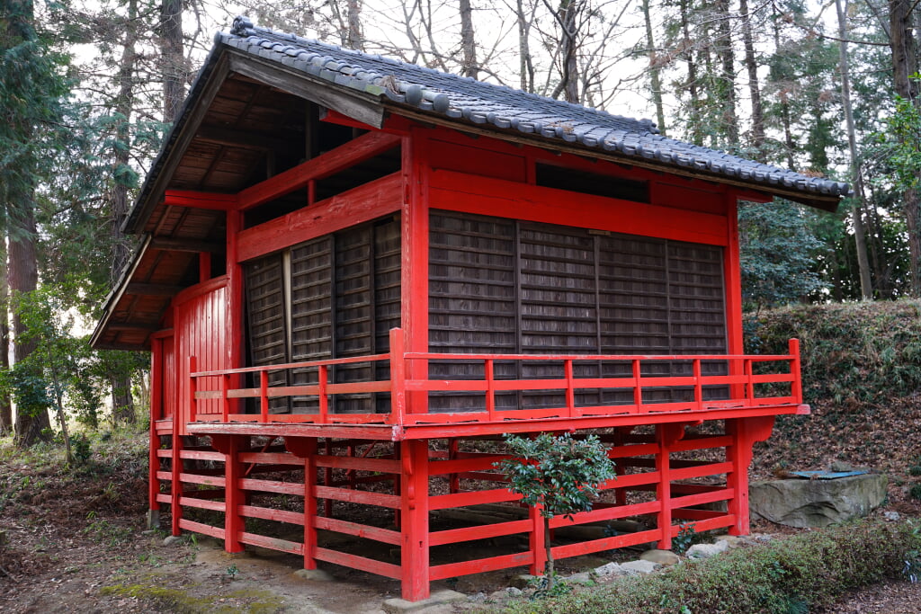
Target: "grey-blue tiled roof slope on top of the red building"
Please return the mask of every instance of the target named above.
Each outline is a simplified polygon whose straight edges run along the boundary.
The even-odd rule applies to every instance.
[[[647,158],[666,167],[694,169],[740,180],[752,184],[752,188],[760,185],[767,191],[775,187],[803,192],[804,198],[809,198],[810,194],[826,198],[845,196],[849,191],[848,185],[841,181],[809,177],[666,138],[649,120],[613,115],[381,55],[255,27],[246,17],[237,17],[233,29],[217,34],[216,42],[284,64],[315,79],[459,122],[488,123],[496,128],[536,134],[622,156]]]

